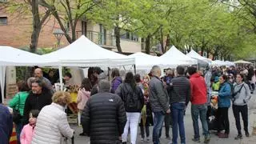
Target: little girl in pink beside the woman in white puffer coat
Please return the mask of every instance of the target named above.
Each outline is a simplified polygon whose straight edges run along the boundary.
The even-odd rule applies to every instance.
[[[30,123],[23,127],[22,133],[20,136],[21,144],[30,144],[34,135],[34,126],[37,122],[39,110],[30,111]]]

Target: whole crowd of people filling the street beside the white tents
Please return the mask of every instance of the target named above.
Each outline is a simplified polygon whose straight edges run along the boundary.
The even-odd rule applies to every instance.
[[[126,144],[129,133],[129,142],[135,144],[138,128],[142,141],[150,142],[150,126],[154,126],[152,141],[159,144],[163,124],[171,143],[178,143],[179,132],[180,142],[185,144],[184,115],[189,102],[194,142],[201,142],[198,118],[202,123],[204,143],[210,142],[210,130],[214,127],[218,138],[229,138],[231,103],[238,130],[235,139],[242,138],[240,113],[245,135],[250,136],[247,103],[256,82],[252,66],[200,70],[194,66],[178,66],[175,70],[166,70],[163,77],[159,66],[153,66],[150,74],[142,76],[127,72],[125,78],[120,76],[118,69],[111,71],[109,78],[99,67],[90,68],[78,90],[78,125],[83,129],[80,135],[89,136],[92,144]],[[52,81],[58,80],[52,73],[50,70],[48,79],[43,77],[42,69],[37,68],[33,78],[18,82],[18,93],[9,102],[13,116],[6,106],[0,105],[1,144],[9,141],[12,122],[18,142],[22,144],[57,144],[62,137],[74,136],[65,113],[66,105],[71,102],[70,94],[54,93]],[[68,73],[65,76],[72,78]],[[214,106],[218,107],[212,121]]]

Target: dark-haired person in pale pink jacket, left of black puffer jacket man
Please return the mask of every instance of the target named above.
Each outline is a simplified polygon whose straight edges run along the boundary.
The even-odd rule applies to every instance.
[[[91,89],[92,89],[92,86],[90,84],[90,79],[89,78],[84,78],[82,80],[81,87],[78,90],[78,98],[77,98],[77,102],[78,102],[78,126],[81,126],[82,110],[85,108],[86,102],[90,98],[90,90]],[[79,135],[85,136],[86,133],[83,130],[82,133],[79,134]]]

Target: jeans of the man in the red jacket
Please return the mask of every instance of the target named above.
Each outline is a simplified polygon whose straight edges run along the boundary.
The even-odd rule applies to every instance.
[[[200,120],[202,122],[202,134],[205,135],[205,137],[209,135],[208,124],[206,121],[206,113],[207,113],[207,104],[191,105],[191,115],[192,115],[193,127],[194,127],[194,138],[200,138],[198,116],[200,116]]]

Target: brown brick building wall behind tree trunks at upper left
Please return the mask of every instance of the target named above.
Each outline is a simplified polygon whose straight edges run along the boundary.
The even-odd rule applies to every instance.
[[[0,45],[25,47],[30,46],[32,33],[32,16],[30,14],[8,14],[0,10],[0,17],[7,17],[7,25],[0,25]],[[38,48],[55,47],[57,39],[54,37],[54,29],[59,28],[54,17],[50,17],[42,26],[38,40]],[[68,42],[63,36],[61,45],[66,46]]]

